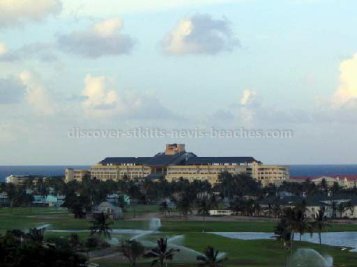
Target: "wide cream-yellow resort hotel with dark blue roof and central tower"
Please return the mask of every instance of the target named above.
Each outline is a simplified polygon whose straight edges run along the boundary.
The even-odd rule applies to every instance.
[[[263,165],[251,156],[202,157],[185,151],[183,144],[166,145],[165,152],[152,157],[105,158],[91,170],[66,169],[66,182],[82,181],[84,177],[114,181],[120,179],[166,179],[176,181],[181,177],[189,181],[218,183],[222,172],[232,175],[247,173],[261,181],[263,186],[281,184],[289,180],[288,165]]]

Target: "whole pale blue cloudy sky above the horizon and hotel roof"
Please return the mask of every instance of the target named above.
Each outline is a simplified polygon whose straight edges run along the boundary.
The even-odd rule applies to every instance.
[[[0,0],[0,165],[356,164],[356,1]],[[73,129],[291,138],[73,138]]]

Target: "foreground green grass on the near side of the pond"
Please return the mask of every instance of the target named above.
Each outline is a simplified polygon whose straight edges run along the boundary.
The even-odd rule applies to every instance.
[[[202,252],[207,245],[227,253],[224,266],[243,267],[283,267],[289,252],[282,249],[282,244],[271,240],[243,241],[238,239],[215,236],[213,234],[185,234],[184,244],[188,248]],[[312,248],[322,255],[330,255],[334,266],[356,266],[357,253],[342,251],[341,248],[328,245],[317,245],[307,242],[296,242],[296,248]],[[179,256],[176,256],[176,258]],[[195,259],[195,257],[193,257]],[[93,261],[101,267],[128,266],[112,259]],[[149,262],[140,262],[139,266],[150,266]],[[197,261],[185,262],[185,259],[174,259],[168,266],[197,266]],[[315,266],[309,266],[315,267]]]

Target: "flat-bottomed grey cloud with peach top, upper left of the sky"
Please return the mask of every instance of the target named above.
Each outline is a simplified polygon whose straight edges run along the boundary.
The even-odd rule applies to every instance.
[[[106,19],[93,24],[86,31],[73,31],[67,35],[60,35],[57,43],[63,51],[88,58],[129,54],[135,45],[135,40],[130,35],[121,33],[122,29],[121,19]]]

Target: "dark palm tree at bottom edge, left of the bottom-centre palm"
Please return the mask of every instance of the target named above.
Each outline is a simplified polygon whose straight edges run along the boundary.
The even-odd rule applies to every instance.
[[[158,240],[158,245],[152,248],[150,252],[144,254],[145,258],[155,258],[151,261],[151,266],[154,266],[160,262],[160,266],[164,267],[166,261],[172,261],[174,259],[174,254],[179,252],[179,249],[167,248],[167,238],[160,238]]]

